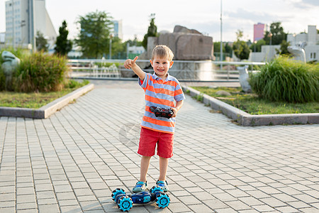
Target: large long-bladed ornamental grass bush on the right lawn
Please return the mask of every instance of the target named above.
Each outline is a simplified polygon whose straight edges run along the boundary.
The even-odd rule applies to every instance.
[[[272,102],[318,102],[319,65],[279,57],[250,75],[250,85],[259,97]]]

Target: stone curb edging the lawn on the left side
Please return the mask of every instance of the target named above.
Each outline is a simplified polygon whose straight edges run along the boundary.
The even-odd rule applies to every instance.
[[[50,115],[54,114],[69,104],[73,99],[77,99],[86,92],[94,89],[94,84],[87,84],[84,87],[74,90],[73,92],[66,94],[64,97],[60,97],[49,104],[40,107],[39,109],[28,109],[18,107],[0,107],[0,116],[13,116],[13,117],[24,117],[30,119],[46,119]]]

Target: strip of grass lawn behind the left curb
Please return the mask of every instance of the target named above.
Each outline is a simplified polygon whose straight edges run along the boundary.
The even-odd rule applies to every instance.
[[[38,109],[40,107],[49,104],[50,102],[60,97],[69,94],[70,92],[83,87],[89,82],[74,83],[72,82],[72,88],[65,88],[59,92],[0,92],[0,107],[21,107]]]

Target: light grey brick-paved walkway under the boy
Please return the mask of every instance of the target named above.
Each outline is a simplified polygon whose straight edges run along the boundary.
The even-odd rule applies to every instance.
[[[139,177],[143,90],[96,89],[48,119],[0,117],[0,212],[120,212]],[[242,127],[187,97],[167,180],[171,204],[130,212],[319,212],[319,125]],[[148,173],[152,186],[158,159]]]

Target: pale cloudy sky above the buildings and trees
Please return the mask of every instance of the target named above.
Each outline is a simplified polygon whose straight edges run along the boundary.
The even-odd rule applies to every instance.
[[[0,33],[6,31],[5,1],[0,0]],[[11,0],[10,0],[11,1]],[[254,23],[280,21],[286,33],[308,31],[308,25],[319,28],[319,0],[222,0],[223,41],[234,41],[243,31],[244,40],[253,40]],[[157,31],[173,32],[180,25],[195,29],[220,41],[220,0],[46,0],[55,31],[67,21],[69,38],[79,33],[79,16],[106,11],[114,20],[123,21],[123,40],[142,40],[155,13]]]

